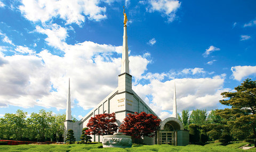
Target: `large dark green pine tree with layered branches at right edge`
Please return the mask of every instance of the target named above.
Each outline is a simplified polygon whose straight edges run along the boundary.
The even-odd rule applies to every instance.
[[[238,140],[256,139],[256,82],[246,79],[235,87],[236,92],[222,92],[220,103],[230,108],[217,110],[224,122],[232,126],[231,134]],[[252,133],[252,134],[251,134]]]

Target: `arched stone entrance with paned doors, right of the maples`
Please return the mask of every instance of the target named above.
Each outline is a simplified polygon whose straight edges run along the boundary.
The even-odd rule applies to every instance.
[[[177,118],[166,118],[158,131],[158,144],[177,145],[177,131],[184,130],[181,121]]]

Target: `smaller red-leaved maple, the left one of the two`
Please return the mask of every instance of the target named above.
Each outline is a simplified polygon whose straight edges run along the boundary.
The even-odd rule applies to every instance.
[[[95,135],[107,135],[113,134],[117,131],[118,126],[115,124],[116,115],[112,114],[100,114],[91,117],[85,134],[95,134]]]

